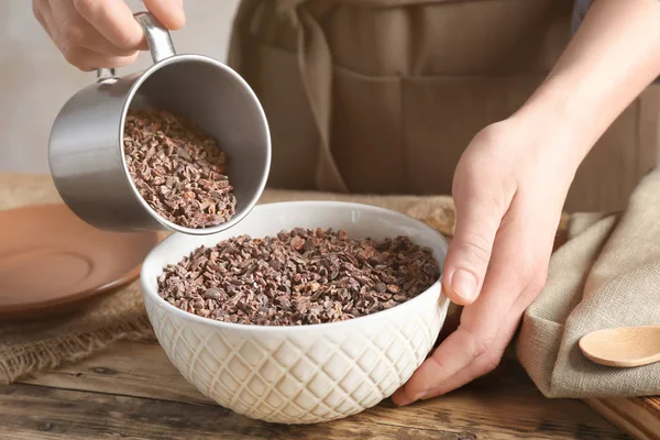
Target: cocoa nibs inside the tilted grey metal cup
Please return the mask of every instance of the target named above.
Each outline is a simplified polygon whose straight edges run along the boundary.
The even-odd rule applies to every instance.
[[[224,153],[194,122],[161,110],[130,111],[123,145],[140,195],[160,216],[195,229],[234,216]]]

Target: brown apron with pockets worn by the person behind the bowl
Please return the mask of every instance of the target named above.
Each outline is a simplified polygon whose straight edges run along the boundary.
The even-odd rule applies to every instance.
[[[229,63],[273,138],[270,185],[450,194],[474,134],[517,110],[571,37],[571,0],[243,0]],[[659,92],[575,178],[569,210],[620,208],[656,164]]]

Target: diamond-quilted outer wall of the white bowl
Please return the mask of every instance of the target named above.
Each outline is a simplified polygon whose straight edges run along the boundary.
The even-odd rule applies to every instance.
[[[241,226],[248,231],[233,232],[260,235],[249,231],[250,223],[237,229]],[[345,224],[336,228],[351,233]],[[177,258],[196,246],[177,251]],[[145,283],[145,290],[150,285],[154,290],[154,284]],[[223,407],[280,424],[343,418],[391,396],[426,359],[449,306],[436,283],[413,300],[372,316],[268,328],[195,317],[154,292],[145,293],[145,304],[161,345],[188,382]]]

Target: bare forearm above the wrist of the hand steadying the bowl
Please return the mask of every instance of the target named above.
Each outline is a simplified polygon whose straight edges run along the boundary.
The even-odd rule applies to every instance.
[[[660,0],[595,0],[548,79],[519,111],[553,113],[581,140],[580,160],[660,74]]]

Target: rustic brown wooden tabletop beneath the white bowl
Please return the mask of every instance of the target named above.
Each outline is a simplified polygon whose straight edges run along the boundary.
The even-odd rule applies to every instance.
[[[344,420],[277,426],[209,402],[156,342],[120,342],[77,364],[0,386],[0,439],[628,439],[580,400],[547,399],[509,353],[444,397],[389,400]]]

